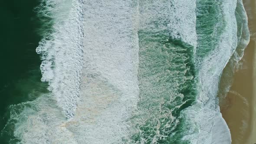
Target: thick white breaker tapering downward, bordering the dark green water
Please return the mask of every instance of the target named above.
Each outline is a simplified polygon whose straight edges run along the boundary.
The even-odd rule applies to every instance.
[[[74,115],[82,71],[82,3],[78,0],[45,0],[45,14],[54,20],[54,32],[36,49],[42,55],[42,81],[49,82],[67,118]]]

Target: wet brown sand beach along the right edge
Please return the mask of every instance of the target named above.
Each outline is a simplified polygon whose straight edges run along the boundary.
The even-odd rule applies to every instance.
[[[243,0],[248,16],[250,43],[247,46],[243,65],[237,69],[233,84],[220,101],[221,113],[227,122],[232,144],[256,143],[256,0]],[[220,98],[221,100],[221,98]]]

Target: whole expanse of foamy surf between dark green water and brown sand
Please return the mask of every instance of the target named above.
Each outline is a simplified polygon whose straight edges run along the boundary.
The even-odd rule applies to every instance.
[[[247,45],[241,0],[41,0],[30,11],[37,71],[25,66],[22,101],[4,105],[4,141],[231,143],[217,92]]]

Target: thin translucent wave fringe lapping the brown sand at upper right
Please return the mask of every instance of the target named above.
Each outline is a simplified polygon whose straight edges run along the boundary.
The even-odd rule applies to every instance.
[[[236,50],[233,52],[233,55],[231,56],[228,64],[226,65],[225,69],[223,70],[223,73],[221,75],[221,81],[219,86],[219,98],[222,102],[220,105],[225,107],[225,98],[227,92],[229,92],[230,87],[233,83],[233,76],[235,70],[238,69],[247,69],[247,65],[243,65],[244,60],[243,52],[246,46],[249,43],[249,29],[248,29],[248,20],[246,11],[243,7],[243,2],[241,0],[237,1],[236,6],[236,21],[238,26],[237,31],[237,47]],[[241,60],[241,61],[240,61]]]

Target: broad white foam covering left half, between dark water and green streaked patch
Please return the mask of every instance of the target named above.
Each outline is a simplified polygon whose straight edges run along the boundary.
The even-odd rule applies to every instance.
[[[42,81],[49,82],[52,93],[20,104],[18,113],[13,106],[14,136],[22,144],[128,139],[128,118],[138,101],[136,1],[45,2],[42,13],[53,18],[54,32],[36,52],[43,59]]]

